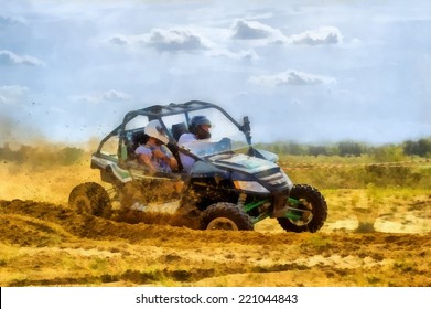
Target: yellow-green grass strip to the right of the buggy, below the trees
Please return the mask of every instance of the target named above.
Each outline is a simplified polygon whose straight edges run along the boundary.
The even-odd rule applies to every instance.
[[[282,156],[280,166],[294,183],[308,183],[320,189],[377,188],[431,189],[430,160],[377,162],[363,157]]]

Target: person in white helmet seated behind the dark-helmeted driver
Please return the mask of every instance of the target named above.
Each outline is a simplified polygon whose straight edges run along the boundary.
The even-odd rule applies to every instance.
[[[172,172],[177,170],[179,163],[172,152],[165,146],[168,136],[159,120],[150,121],[146,127],[149,139],[146,145],[140,145],[134,153],[138,162],[146,164],[151,172]]]

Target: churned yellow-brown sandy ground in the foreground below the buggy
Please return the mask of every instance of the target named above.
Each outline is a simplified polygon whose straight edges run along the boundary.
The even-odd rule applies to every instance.
[[[194,231],[0,201],[0,284],[431,286],[430,236]]]

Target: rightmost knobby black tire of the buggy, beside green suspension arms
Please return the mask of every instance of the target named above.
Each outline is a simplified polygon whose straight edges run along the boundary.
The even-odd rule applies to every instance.
[[[308,184],[297,184],[290,192],[290,198],[300,201],[300,205],[294,206],[305,212],[297,212],[300,220],[278,217],[278,222],[288,232],[317,232],[324,224],[327,216],[327,205],[325,198],[313,187]],[[295,213],[294,211],[292,211]]]

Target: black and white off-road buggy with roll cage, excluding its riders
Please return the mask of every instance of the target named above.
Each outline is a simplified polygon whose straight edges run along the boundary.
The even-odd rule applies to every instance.
[[[180,147],[179,137],[196,115],[212,120],[211,140]],[[168,147],[180,162],[176,171],[150,173],[136,160],[144,126],[154,119],[169,136]],[[180,152],[195,159],[191,172],[182,171]],[[114,193],[87,182],[72,190],[69,204],[78,212],[131,223],[164,211],[176,219],[171,223],[193,228],[252,230],[276,217],[285,231],[316,232],[327,215],[323,195],[310,185],[294,185],[277,160],[277,154],[252,146],[248,117],[239,124],[219,106],[197,100],[150,106],[129,111],[91,157],[91,168],[100,170]],[[119,201],[117,210],[114,200]],[[282,214],[274,214],[276,209],[283,209]]]

